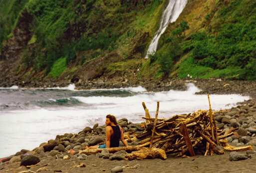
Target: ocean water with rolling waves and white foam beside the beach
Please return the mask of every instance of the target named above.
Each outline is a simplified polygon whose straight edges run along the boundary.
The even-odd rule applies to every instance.
[[[194,84],[187,91],[147,92],[143,87],[120,89],[75,90],[66,88],[24,89],[13,86],[0,88],[0,158],[21,149],[33,150],[56,135],[78,133],[85,127],[105,123],[107,114],[117,120],[144,122],[142,102],[155,117],[157,101],[159,118],[209,109],[207,95]],[[241,95],[210,95],[213,110],[236,106],[249,100]]]

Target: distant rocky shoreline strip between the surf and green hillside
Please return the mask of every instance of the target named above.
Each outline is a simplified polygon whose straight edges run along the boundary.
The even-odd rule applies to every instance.
[[[124,79],[123,79],[124,80]],[[125,87],[138,87],[142,86],[147,91],[169,91],[179,90],[184,91],[187,89],[187,83],[194,83],[196,87],[201,89],[197,94],[241,94],[243,96],[250,96],[256,99],[256,80],[236,80],[236,79],[165,79],[165,80],[131,80],[124,81],[103,81],[101,79],[92,81],[14,81],[12,83],[0,83],[0,87],[11,87],[13,85],[19,88],[54,88],[54,87],[67,87],[74,84],[75,88],[81,89],[113,89]]]

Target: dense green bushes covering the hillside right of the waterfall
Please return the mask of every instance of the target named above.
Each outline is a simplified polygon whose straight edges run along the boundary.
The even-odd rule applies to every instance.
[[[223,3],[216,2],[215,14],[207,13],[203,31],[184,36],[187,22],[177,24],[150,62],[160,64],[164,76],[176,71],[178,77],[256,79],[256,2]]]

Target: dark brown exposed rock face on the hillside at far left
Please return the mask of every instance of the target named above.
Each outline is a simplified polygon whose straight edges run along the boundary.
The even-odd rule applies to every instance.
[[[15,58],[27,45],[31,38],[29,23],[32,22],[32,19],[32,15],[27,10],[20,14],[18,23],[12,31],[13,36],[7,40],[6,45],[1,50],[0,60]]]

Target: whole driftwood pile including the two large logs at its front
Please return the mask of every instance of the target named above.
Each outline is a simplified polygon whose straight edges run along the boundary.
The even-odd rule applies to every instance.
[[[193,114],[175,115],[169,119],[158,119],[159,102],[155,118],[150,118],[149,111],[143,102],[146,123],[140,126],[145,128],[144,132],[136,134],[131,138],[130,132],[124,134],[128,142],[140,140],[139,145],[119,148],[108,148],[109,153],[124,150],[130,154],[126,159],[166,159],[166,154],[174,154],[177,157],[195,156],[195,151],[204,151],[205,155],[224,154],[220,150],[222,146],[225,151],[253,150],[252,146],[233,147],[227,144],[227,137],[234,135],[238,128],[232,128],[222,132],[216,125],[214,114],[212,114],[210,98],[209,110],[199,110]],[[134,135],[134,132],[132,133]],[[92,155],[103,149],[83,150],[79,154]],[[137,151],[137,152],[136,152]]]

